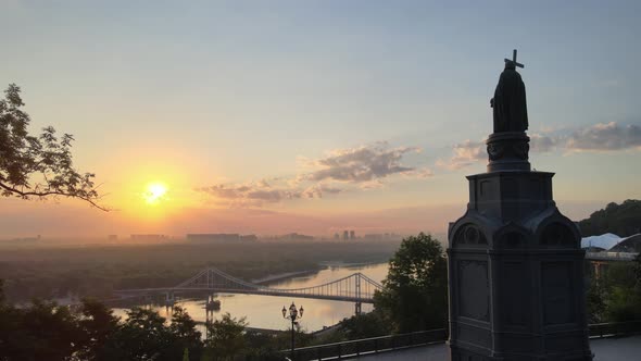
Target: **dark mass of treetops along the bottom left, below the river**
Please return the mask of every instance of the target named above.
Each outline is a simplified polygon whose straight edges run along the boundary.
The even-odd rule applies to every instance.
[[[289,347],[289,332],[247,333],[244,318],[229,313],[208,325],[204,341],[196,325],[180,307],[167,324],[155,311],[141,308],[122,321],[91,299],[74,312],[54,302],[34,301],[20,309],[0,302],[0,361],[281,360],[280,350]],[[296,337],[299,347],[312,338],[299,327]]]

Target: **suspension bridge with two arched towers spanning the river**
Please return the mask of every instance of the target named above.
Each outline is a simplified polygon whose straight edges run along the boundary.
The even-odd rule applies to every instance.
[[[168,299],[173,299],[173,295],[176,292],[212,291],[373,303],[374,292],[381,289],[382,286],[379,283],[360,272],[317,286],[273,288],[236,278],[215,267],[208,267],[174,287],[120,289],[114,292],[121,296],[166,294]]]

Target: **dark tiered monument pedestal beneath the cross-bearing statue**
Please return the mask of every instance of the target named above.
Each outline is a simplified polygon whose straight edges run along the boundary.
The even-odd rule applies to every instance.
[[[488,138],[488,173],[468,176],[449,228],[452,361],[592,360],[577,226],[531,172],[521,132]]]

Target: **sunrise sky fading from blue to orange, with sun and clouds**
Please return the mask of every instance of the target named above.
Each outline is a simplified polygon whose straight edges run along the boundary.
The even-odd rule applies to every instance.
[[[641,198],[639,1],[0,7],[0,85],[75,136],[112,209],[0,198],[0,238],[442,233],[514,48],[562,212]]]

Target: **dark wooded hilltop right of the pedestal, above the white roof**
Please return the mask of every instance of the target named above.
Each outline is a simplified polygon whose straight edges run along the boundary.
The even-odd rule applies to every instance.
[[[628,237],[641,233],[641,200],[628,199],[621,204],[609,203],[580,221],[579,228],[583,237],[605,233]]]

